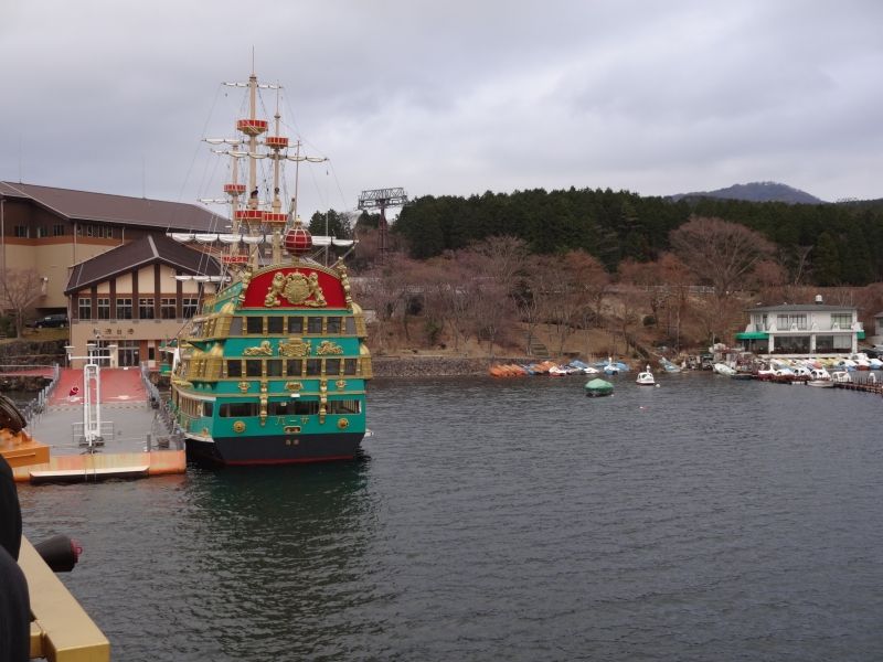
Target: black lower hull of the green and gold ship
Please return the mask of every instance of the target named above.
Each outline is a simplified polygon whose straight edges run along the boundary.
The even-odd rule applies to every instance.
[[[187,439],[188,459],[213,465],[295,465],[352,460],[360,456],[364,433],[220,437],[213,441]]]

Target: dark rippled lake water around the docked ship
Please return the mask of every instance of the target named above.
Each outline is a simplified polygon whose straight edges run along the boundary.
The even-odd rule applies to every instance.
[[[880,660],[879,396],[372,383],[364,461],[22,485],[117,660]]]

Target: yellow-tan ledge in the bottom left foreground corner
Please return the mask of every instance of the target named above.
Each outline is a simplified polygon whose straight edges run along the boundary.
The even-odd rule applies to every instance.
[[[110,660],[107,637],[24,536],[19,567],[31,597],[31,659]]]

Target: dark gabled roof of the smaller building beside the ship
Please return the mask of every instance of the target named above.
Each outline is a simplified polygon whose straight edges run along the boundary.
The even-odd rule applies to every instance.
[[[166,235],[148,235],[75,265],[64,293],[73,293],[156,263],[169,265],[181,274],[221,275],[221,265],[211,255],[188,248]]]

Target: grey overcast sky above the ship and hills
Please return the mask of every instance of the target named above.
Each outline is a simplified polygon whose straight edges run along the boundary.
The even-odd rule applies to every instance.
[[[302,216],[544,188],[883,197],[883,2],[0,0],[0,180],[220,197],[252,67]],[[265,9],[262,12],[262,9]],[[276,94],[264,93],[267,115]],[[266,163],[266,162],[265,162]],[[294,169],[286,191],[292,192]],[[222,211],[217,209],[216,211]]]

